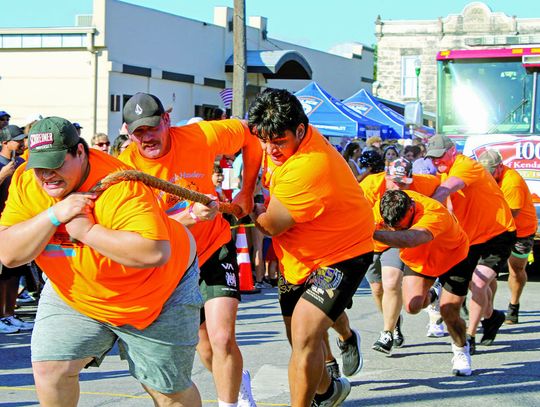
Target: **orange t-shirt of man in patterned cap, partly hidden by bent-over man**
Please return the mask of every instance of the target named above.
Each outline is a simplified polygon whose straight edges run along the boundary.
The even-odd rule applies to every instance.
[[[378,174],[368,175],[360,182],[360,187],[364,191],[364,196],[368,200],[369,204],[373,208],[373,213],[376,214],[379,211],[378,201],[382,198],[386,192],[386,173],[381,172]],[[413,182],[409,185],[410,191],[416,191],[425,196],[431,196],[440,185],[441,180],[438,177],[427,174],[413,174]],[[374,250],[377,253],[382,253],[388,246],[377,240],[373,241]]]

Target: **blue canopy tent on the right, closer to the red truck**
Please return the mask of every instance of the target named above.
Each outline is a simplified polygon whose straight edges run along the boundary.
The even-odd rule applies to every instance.
[[[383,105],[365,89],[360,89],[354,95],[345,99],[343,103],[357,113],[388,125],[388,138],[411,138],[409,128],[405,126],[405,118]],[[435,133],[434,129],[427,126],[422,126],[422,128],[416,129],[416,131],[421,133],[421,135],[432,135]]]

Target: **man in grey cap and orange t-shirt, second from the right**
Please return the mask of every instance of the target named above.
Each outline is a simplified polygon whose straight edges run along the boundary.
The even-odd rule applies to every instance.
[[[460,355],[464,350],[474,353],[474,337],[481,318],[484,317],[481,343],[486,346],[493,343],[505,319],[504,312],[493,309],[490,284],[496,280],[510,256],[516,238],[516,226],[493,177],[478,162],[457,154],[452,140],[440,134],[433,136],[429,140],[426,156],[431,157],[437,171],[442,174],[441,186],[432,198],[447,203],[469,237],[472,300],[467,333],[470,338],[468,344],[459,342],[454,346],[456,354]],[[443,295],[446,294],[444,291]],[[451,306],[461,307],[462,300],[454,296]],[[443,318],[445,312],[441,310]]]

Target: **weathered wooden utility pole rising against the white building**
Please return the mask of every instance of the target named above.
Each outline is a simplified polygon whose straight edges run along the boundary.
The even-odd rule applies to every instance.
[[[244,118],[246,113],[246,2],[234,0],[233,17],[233,116]]]

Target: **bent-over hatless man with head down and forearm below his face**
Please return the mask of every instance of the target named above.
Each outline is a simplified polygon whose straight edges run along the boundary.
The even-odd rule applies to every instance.
[[[390,247],[399,248],[405,263],[403,301],[410,314],[417,314],[437,298],[430,290],[435,279],[443,286],[440,307],[448,309],[444,322],[452,337],[452,372],[469,376],[471,359],[463,346],[465,322],[459,308],[451,304],[467,295],[466,273],[469,241],[457,219],[438,201],[414,191],[389,190],[376,204],[373,237]]]

